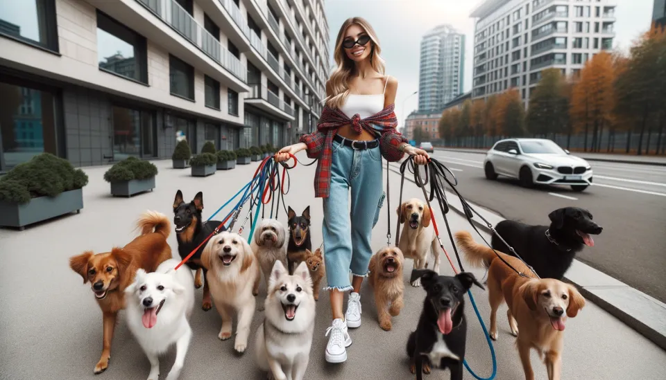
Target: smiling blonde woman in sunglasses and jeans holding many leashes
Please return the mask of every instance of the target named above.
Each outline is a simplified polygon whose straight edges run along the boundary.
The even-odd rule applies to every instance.
[[[407,144],[395,130],[393,113],[398,81],[384,75],[381,49],[375,31],[365,19],[347,19],[335,43],[337,69],[326,82],[326,100],[318,131],[302,136],[300,143],[284,147],[275,161],[307,150],[318,159],[315,197],[323,198],[323,239],[326,279],[330,291],[332,326],[326,346],[326,361],[342,363],[352,340],[348,327],[361,326],[361,282],[368,273],[373,250],[370,237],[382,194],[382,156],[399,161],[405,153],[415,161],[429,159],[423,150]],[[348,205],[351,188],[351,212]],[[351,215],[351,221],[350,221]],[[349,272],[353,275],[350,284]],[[343,314],[345,291],[349,296]]]

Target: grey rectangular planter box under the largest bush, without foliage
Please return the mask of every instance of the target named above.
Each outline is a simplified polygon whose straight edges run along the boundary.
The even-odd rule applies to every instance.
[[[83,208],[83,189],[62,192],[56,197],[33,198],[25,204],[0,202],[0,226],[18,227],[24,230],[28,224],[37,223]]]

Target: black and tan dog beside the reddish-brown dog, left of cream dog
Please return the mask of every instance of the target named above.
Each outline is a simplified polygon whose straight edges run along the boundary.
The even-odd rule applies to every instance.
[[[178,240],[178,254],[181,259],[185,259],[194,248],[196,248],[203,240],[210,235],[217,226],[222,224],[221,221],[209,220],[201,221],[201,211],[203,210],[203,192],[198,192],[189,203],[185,203],[182,199],[182,192],[176,192],[176,199],[173,200],[173,224],[176,225],[176,239]],[[222,226],[219,232],[226,228]],[[203,273],[203,302],[201,308],[205,311],[213,307],[213,302],[210,298],[210,289],[208,289],[208,279],[206,278],[207,271],[201,264],[201,253],[206,244],[203,244],[196,250],[196,253],[187,260],[185,264],[190,269],[196,271],[194,277],[194,287],[197,289],[202,285]]]

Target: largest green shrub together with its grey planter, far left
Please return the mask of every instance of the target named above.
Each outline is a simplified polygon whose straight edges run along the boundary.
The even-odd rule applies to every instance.
[[[50,153],[20,163],[0,179],[0,226],[28,224],[80,212],[88,176]]]

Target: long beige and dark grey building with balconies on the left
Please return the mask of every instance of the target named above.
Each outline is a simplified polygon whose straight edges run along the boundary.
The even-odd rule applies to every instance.
[[[77,166],[282,146],[316,125],[323,0],[0,3],[0,172],[40,152]],[[35,20],[35,21],[32,21]]]

